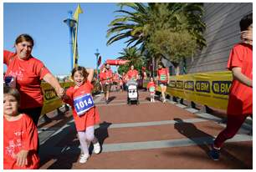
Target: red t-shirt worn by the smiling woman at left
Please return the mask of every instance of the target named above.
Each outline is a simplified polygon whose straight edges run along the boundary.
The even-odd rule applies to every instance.
[[[19,59],[17,54],[3,51],[3,63],[8,66],[5,76],[16,77],[16,88],[21,95],[20,109],[43,106],[41,80],[49,69],[37,58]]]

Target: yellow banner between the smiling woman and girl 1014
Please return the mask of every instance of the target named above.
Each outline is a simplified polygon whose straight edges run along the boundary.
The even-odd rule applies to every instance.
[[[60,83],[60,85],[64,89],[68,89],[70,86],[73,86],[74,83],[73,82]],[[49,113],[64,104],[62,102],[62,100],[59,99],[54,88],[52,86],[50,86],[49,83],[42,83],[41,88],[42,88],[42,91],[44,94],[44,106],[43,106],[41,114]]]

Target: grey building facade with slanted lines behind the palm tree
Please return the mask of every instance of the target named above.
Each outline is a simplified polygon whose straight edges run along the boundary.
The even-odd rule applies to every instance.
[[[227,70],[230,50],[241,41],[239,21],[253,13],[253,3],[204,3],[204,10],[207,47],[187,58],[187,73]]]

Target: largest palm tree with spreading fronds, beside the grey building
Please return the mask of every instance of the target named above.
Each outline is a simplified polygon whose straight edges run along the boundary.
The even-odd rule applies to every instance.
[[[187,37],[195,41],[194,49],[202,49],[206,46],[206,41],[202,37],[205,29],[205,24],[202,23],[202,3],[148,3],[147,6],[144,3],[119,3],[119,5],[120,10],[115,12],[123,15],[118,16],[110,23],[107,37],[110,37],[111,34],[114,36],[107,41],[107,45],[128,38],[125,42],[127,47],[131,44],[131,47],[140,45],[141,53],[146,50],[158,60],[168,54],[168,48],[170,48],[170,46],[154,48],[156,46],[152,41],[153,37],[163,31],[167,32],[167,35],[171,35],[170,33],[182,35],[182,33],[187,34],[188,32]],[[122,9],[124,7],[130,8],[131,11]],[[163,37],[163,39],[168,42],[166,39],[169,38]],[[192,46],[189,47],[192,48]],[[191,55],[195,52],[193,49],[189,51],[191,51]],[[187,53],[183,54],[187,56]],[[170,60],[177,65],[179,60],[174,61],[173,58],[184,58],[184,55],[176,57],[172,55],[173,53],[169,54]]]

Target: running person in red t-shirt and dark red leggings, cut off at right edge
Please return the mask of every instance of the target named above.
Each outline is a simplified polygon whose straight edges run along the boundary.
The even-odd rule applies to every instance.
[[[240,28],[243,42],[234,45],[227,66],[233,73],[228,99],[228,122],[209,152],[214,160],[219,159],[223,143],[237,134],[248,115],[253,115],[253,13],[241,19]]]

